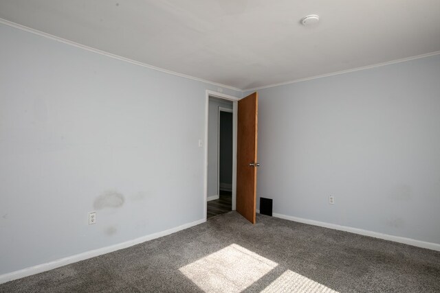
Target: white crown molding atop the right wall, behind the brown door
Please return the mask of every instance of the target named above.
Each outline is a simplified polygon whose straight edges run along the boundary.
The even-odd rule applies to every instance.
[[[256,88],[252,88],[252,89],[244,89],[242,90],[243,93],[247,92],[247,91],[258,91],[260,89],[267,89],[267,88],[272,88],[275,86],[283,86],[286,84],[294,84],[296,82],[305,82],[307,80],[316,80],[317,78],[327,78],[329,76],[333,76],[333,75],[340,75],[340,74],[344,74],[344,73],[351,73],[354,71],[360,71],[360,70],[365,70],[365,69],[372,69],[375,67],[381,67],[381,66],[385,66],[385,65],[392,65],[395,63],[400,63],[400,62],[406,62],[406,61],[410,61],[410,60],[416,60],[416,59],[420,59],[420,58],[426,58],[426,57],[430,57],[430,56],[436,56],[439,55],[440,51],[434,51],[428,54],[421,54],[421,55],[417,55],[417,56],[411,56],[411,57],[407,57],[407,58],[401,58],[401,59],[397,59],[397,60],[392,60],[392,61],[387,61],[387,62],[382,62],[382,63],[376,63],[373,65],[366,65],[366,66],[362,66],[362,67],[356,67],[353,69],[347,69],[347,70],[342,70],[342,71],[335,71],[335,72],[331,72],[331,73],[325,73],[325,74],[321,74],[321,75],[315,75],[315,76],[311,76],[309,78],[299,78],[298,80],[290,80],[288,82],[280,82],[278,84],[270,84],[267,86],[259,86]]]

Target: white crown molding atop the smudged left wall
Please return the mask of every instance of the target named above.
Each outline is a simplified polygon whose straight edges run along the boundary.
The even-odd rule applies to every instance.
[[[104,56],[107,56],[107,57],[110,57],[110,58],[114,58],[114,59],[118,59],[118,60],[121,60],[121,61],[124,61],[124,62],[128,62],[128,63],[131,63],[133,65],[138,65],[138,66],[141,66],[141,67],[146,67],[148,69],[153,69],[155,71],[160,71],[160,72],[163,72],[163,73],[168,73],[170,75],[176,75],[176,76],[179,76],[181,78],[188,78],[188,80],[195,80],[197,82],[204,82],[206,84],[212,84],[214,86],[220,86],[220,87],[223,87],[225,89],[231,89],[233,91],[243,92],[241,89],[238,89],[238,88],[236,88],[234,86],[227,86],[225,84],[219,84],[217,82],[211,82],[209,80],[203,80],[201,78],[196,78],[194,76],[186,75],[184,73],[178,73],[178,72],[175,72],[175,71],[170,71],[168,69],[162,69],[160,67],[155,67],[153,65],[148,65],[148,64],[146,64],[144,62],[139,62],[139,61],[135,61],[135,60],[132,60],[132,59],[129,59],[129,58],[125,58],[125,57],[122,57],[122,56],[111,54],[111,53],[109,53],[107,51],[102,51],[100,49],[95,49],[93,47],[82,45],[80,43],[73,42],[72,40],[66,40],[65,38],[61,38],[59,36],[54,36],[52,34],[47,34],[45,32],[41,32],[39,30],[35,30],[35,29],[31,28],[31,27],[26,27],[25,25],[20,25],[18,23],[13,23],[12,21],[7,21],[5,19],[1,19],[0,18],[0,23],[3,23],[3,25],[8,25],[10,27],[15,27],[15,28],[17,28],[19,30],[23,30],[25,32],[30,32],[31,34],[36,34],[36,35],[39,35],[39,36],[43,36],[45,38],[50,38],[51,40],[56,40],[58,42],[65,43],[67,45],[78,47],[80,49],[85,49],[87,51],[91,51],[91,52],[94,52],[96,54],[100,54],[100,55],[104,55]]]

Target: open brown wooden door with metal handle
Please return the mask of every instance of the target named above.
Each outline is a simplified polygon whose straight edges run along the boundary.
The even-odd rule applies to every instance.
[[[259,95],[239,100],[236,145],[236,211],[255,224],[256,133]]]

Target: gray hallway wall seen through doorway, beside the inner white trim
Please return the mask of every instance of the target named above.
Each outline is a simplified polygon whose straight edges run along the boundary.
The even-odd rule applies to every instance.
[[[232,109],[232,102],[210,97],[208,111],[208,197],[218,196],[219,107]]]

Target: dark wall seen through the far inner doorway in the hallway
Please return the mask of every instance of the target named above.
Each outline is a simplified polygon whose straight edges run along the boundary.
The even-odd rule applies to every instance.
[[[220,187],[222,183],[225,186],[232,187],[232,113],[220,112],[220,167],[219,179]]]

